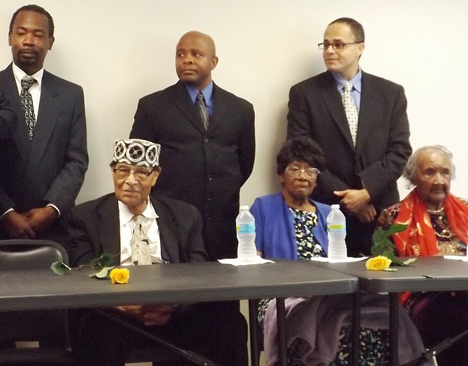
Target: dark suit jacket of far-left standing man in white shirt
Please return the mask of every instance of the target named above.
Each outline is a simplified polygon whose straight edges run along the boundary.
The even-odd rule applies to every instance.
[[[49,202],[65,214],[88,166],[82,88],[44,71],[32,141],[11,64],[0,72],[0,91],[17,117],[13,138],[0,145],[0,215],[10,207],[22,213]]]

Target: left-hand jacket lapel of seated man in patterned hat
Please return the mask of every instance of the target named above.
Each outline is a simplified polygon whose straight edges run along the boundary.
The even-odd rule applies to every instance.
[[[98,235],[103,252],[120,253],[119,204],[114,194],[109,195],[108,199],[99,207],[97,220]],[[115,262],[120,263],[120,254]]]

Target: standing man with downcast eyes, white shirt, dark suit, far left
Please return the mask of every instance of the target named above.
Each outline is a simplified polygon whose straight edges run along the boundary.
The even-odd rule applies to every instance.
[[[54,22],[40,6],[13,14],[8,43],[13,63],[0,72],[0,91],[16,125],[0,145],[0,239],[61,242],[61,216],[74,206],[88,166],[83,91],[44,70]]]

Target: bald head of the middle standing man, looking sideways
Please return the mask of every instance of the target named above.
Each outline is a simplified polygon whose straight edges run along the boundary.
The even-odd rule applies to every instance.
[[[218,57],[213,39],[205,33],[189,31],[177,43],[175,70],[179,79],[197,90],[211,82],[211,71],[216,68]]]

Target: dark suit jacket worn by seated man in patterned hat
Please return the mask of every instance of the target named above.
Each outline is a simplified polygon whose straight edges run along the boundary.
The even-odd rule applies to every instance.
[[[150,201],[159,215],[156,222],[162,258],[170,263],[205,261],[202,222],[196,208],[159,195],[150,197]],[[89,264],[103,252],[118,254],[116,263],[120,263],[119,205],[114,193],[76,206],[67,222],[72,266]]]

